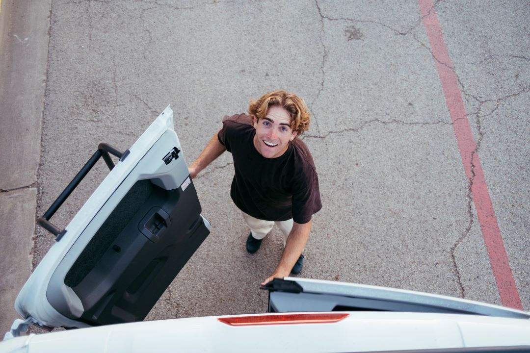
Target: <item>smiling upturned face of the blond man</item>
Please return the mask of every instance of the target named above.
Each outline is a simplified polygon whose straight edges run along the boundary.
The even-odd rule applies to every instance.
[[[254,147],[265,158],[280,157],[287,151],[289,141],[296,137],[290,126],[289,113],[280,106],[271,106],[263,119],[254,117]]]

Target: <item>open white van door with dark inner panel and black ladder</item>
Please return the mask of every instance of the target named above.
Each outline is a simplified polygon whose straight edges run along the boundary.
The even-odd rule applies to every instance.
[[[116,166],[107,152],[120,157]],[[68,226],[57,229],[51,216],[100,156],[109,175]],[[208,236],[200,212],[167,107],[129,150],[100,144],[39,220],[57,242],[22,288],[15,309],[47,327],[143,320]]]

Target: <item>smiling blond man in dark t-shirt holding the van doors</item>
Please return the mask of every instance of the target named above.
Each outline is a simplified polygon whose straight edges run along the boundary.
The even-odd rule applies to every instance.
[[[303,99],[285,90],[269,92],[251,101],[249,115],[225,116],[223,129],[189,167],[195,178],[224,151],[232,152],[235,175],[230,194],[250,228],[247,251],[258,251],[274,224],[284,234],[278,266],[261,285],[300,273],[311,217],[322,208],[313,158],[296,138],[309,123]]]

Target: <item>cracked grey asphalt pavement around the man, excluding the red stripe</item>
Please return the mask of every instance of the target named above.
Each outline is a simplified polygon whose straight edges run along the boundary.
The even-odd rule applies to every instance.
[[[456,75],[476,144],[469,167],[479,156],[530,310],[530,4],[434,2],[452,65],[431,49],[416,1],[52,0],[50,10],[37,216],[99,142],[129,148],[168,104],[191,162],[225,114],[285,88],[312,113],[302,139],[323,203],[300,276],[501,304],[439,62]],[[106,168],[54,224],[68,224]],[[259,283],[280,258],[280,232],[246,253],[232,176],[224,153],[194,180],[213,228],[148,320],[267,309]],[[34,267],[54,239],[36,229],[31,240]]]

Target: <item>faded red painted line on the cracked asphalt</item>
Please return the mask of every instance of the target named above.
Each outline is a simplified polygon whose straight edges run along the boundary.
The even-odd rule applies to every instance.
[[[462,92],[458,87],[458,81],[453,71],[453,63],[449,58],[444,37],[441,33],[438,17],[431,0],[418,0],[423,24],[427,30],[427,36],[432,48],[436,62],[441,87],[444,90],[445,101],[449,108],[449,115],[453,121],[458,149],[464,164],[467,178],[473,178],[471,194],[475,204],[476,213],[479,218],[482,236],[488,250],[488,255],[493,268],[493,275],[497,281],[502,305],[523,309],[519,292],[515,285],[514,276],[511,272],[506,248],[499,230],[497,217],[493,211],[493,204],[488,193],[488,186],[484,178],[484,171],[480,163],[479,154],[475,151],[475,141],[467,120]],[[443,64],[442,64],[443,63]],[[474,168],[472,170],[471,164]]]

